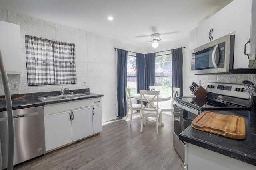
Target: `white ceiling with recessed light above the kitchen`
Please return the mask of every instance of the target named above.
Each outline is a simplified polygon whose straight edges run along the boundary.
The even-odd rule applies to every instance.
[[[161,39],[188,38],[198,21],[231,1],[0,0],[0,8],[148,47],[153,33]]]

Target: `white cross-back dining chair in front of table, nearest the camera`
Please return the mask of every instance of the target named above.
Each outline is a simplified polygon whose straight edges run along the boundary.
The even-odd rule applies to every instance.
[[[147,95],[152,95],[152,98],[147,98]],[[154,100],[156,100],[156,106],[154,106]],[[158,108],[159,91],[140,90],[140,102],[141,102],[141,124],[140,132],[143,130],[143,124],[146,125],[147,117],[156,117],[156,135],[158,135],[158,126],[161,126],[162,111]],[[146,101],[146,106],[142,105],[142,102]]]

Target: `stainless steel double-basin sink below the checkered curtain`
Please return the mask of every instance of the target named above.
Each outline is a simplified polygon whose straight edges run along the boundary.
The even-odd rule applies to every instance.
[[[42,102],[52,102],[58,100],[68,100],[68,99],[77,99],[77,98],[84,98],[86,96],[90,96],[88,94],[67,94],[67,95],[60,95],[60,96],[49,96],[49,97],[42,97],[38,98]]]

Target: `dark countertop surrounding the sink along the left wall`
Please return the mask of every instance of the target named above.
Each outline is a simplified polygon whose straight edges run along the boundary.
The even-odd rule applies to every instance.
[[[38,98],[40,97],[47,97],[47,96],[57,96],[60,95],[60,91],[54,91],[54,92],[40,92],[40,93],[28,93],[28,94],[14,94],[11,95],[12,98],[12,109],[24,109],[28,107],[37,107],[37,106],[43,106],[47,104],[54,104],[54,103],[61,103],[61,102],[69,102],[74,100],[82,100],[82,99],[88,99],[88,98],[98,98],[102,97],[103,94],[96,94],[96,93],[90,93],[89,89],[78,89],[78,90],[66,90],[64,94],[68,94],[68,92],[76,93],[82,93],[82,94],[88,94],[89,96],[84,96],[82,98],[70,98],[65,100],[57,100],[57,101],[51,101],[51,102],[42,102]],[[6,103],[4,101],[4,96],[0,96],[0,112],[6,111]]]

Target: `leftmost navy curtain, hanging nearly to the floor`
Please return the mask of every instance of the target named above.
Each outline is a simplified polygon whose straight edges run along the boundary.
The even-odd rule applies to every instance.
[[[125,117],[127,112],[125,88],[127,80],[127,52],[117,49],[117,107],[118,116]]]

